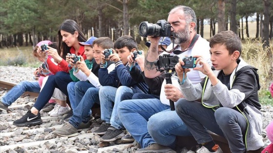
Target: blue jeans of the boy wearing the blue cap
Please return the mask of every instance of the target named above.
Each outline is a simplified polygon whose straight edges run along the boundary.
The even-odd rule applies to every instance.
[[[86,81],[71,82],[67,85],[69,101],[73,110],[76,109],[85,92],[90,87],[95,86]]]

